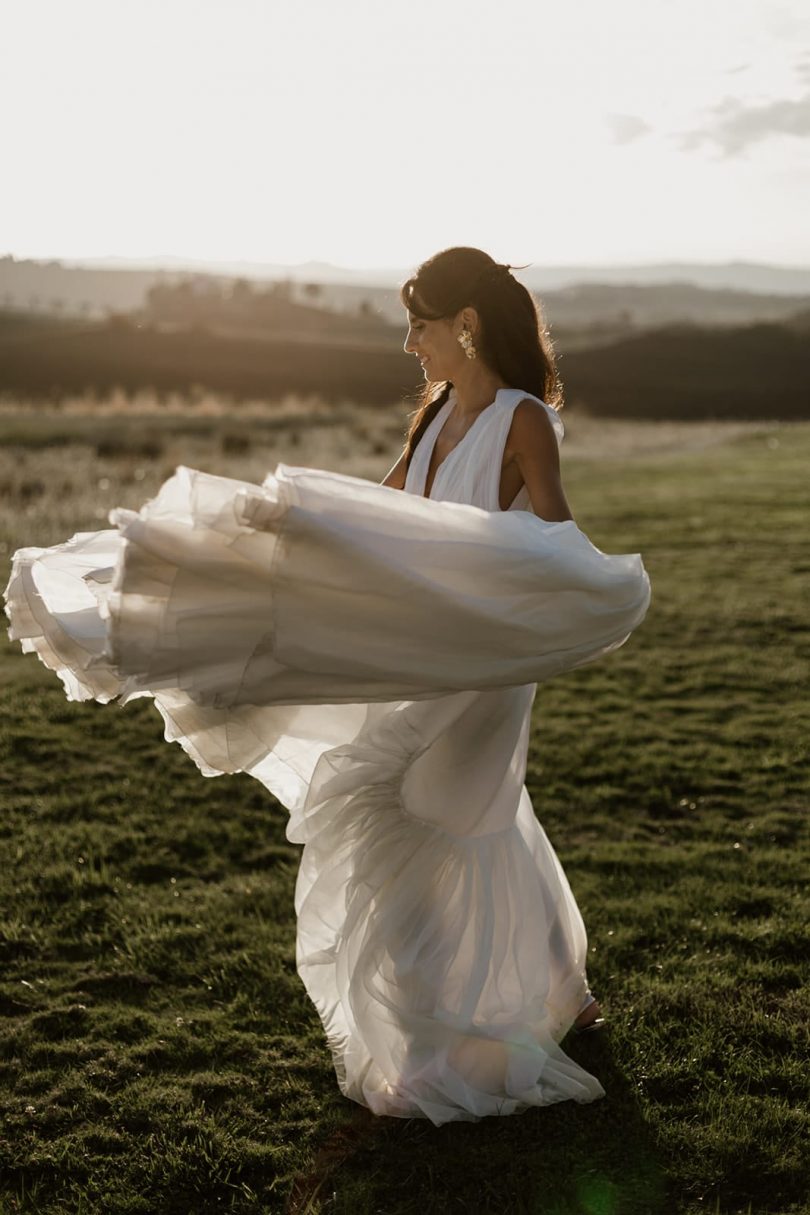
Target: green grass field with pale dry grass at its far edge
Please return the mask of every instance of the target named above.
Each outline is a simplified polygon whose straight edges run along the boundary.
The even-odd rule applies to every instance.
[[[4,584],[15,548],[108,526],[177,463],[380,480],[402,423],[6,408]],[[625,646],[539,686],[527,775],[610,1018],[566,1049],[607,1096],[440,1129],[345,1100],[285,812],[4,639],[4,1215],[810,1210],[810,424],[568,426],[579,526],[653,588]]]

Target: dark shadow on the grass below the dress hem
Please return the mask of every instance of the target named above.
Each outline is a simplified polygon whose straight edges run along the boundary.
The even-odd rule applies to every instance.
[[[341,1104],[345,1123],[295,1180],[285,1215],[674,1215],[610,1029],[566,1051],[600,1078],[604,1098],[443,1126]]]

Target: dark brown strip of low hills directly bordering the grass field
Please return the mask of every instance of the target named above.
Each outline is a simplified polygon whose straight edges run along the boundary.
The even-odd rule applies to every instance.
[[[808,328],[806,316],[791,326],[736,329],[674,324],[567,352],[557,340],[566,403],[624,418],[810,418]],[[421,383],[398,330],[386,343],[300,334],[248,340],[130,318],[34,324],[0,313],[6,395],[203,388],[237,401],[301,392],[390,405],[412,397]]]

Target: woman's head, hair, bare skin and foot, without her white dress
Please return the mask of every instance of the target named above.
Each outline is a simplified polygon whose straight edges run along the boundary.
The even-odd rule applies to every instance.
[[[383,484],[458,501],[458,491],[454,495],[447,485],[443,492],[434,492],[438,468],[478,414],[493,412],[499,391],[520,384],[527,392],[534,389],[539,399],[511,394],[499,428],[505,434],[499,463],[498,445],[488,452],[487,439],[480,440],[485,460],[491,457],[498,471],[498,508],[531,509],[548,521],[573,519],[560,479],[557,435],[561,439],[562,429],[555,430],[557,419],[549,417],[549,406],[562,406],[553,347],[531,294],[510,271],[480,249],[457,247],[423,262],[401,288],[409,323],[404,349],[419,360],[425,390],[404,451]],[[434,391],[437,382],[438,392]],[[451,397],[447,420],[425,452],[423,488],[418,490],[419,477],[417,486],[408,485],[414,450]],[[590,989],[573,1024],[578,1033],[605,1024]]]

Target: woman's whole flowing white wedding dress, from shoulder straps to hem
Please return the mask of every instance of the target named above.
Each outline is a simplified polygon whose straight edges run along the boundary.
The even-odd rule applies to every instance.
[[[499,509],[529,395],[498,392],[430,498],[453,394],[404,492],[180,467],[112,529],[19,549],[6,587],[9,635],[68,697],[152,696],[205,775],[287,808],[298,971],[340,1090],[436,1125],[604,1095],[559,1046],[585,929],[523,781],[537,682],[622,645],[650,581],[525,487]]]

